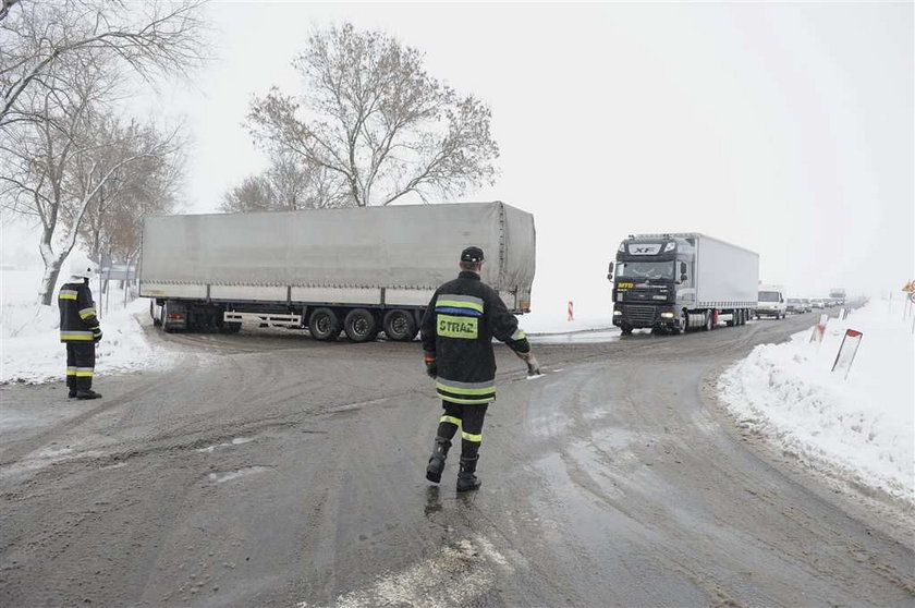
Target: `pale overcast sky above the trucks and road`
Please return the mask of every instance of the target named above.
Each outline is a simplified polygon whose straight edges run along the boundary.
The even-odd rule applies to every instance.
[[[534,305],[609,301],[634,232],[698,231],[760,254],[792,295],[915,276],[912,3],[213,3],[218,57],[156,100],[194,137],[187,209],[264,167],[253,95],[297,90],[315,28],[351,21],[426,53],[492,109],[501,177],[469,200],[535,215]],[[417,251],[422,255],[422,251]]]

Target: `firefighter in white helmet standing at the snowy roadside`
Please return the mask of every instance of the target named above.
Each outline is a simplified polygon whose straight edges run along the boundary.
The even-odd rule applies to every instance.
[[[70,263],[70,279],[60,288],[60,341],[66,344],[68,397],[98,399],[93,390],[95,348],[101,340],[101,329],[96,316],[89,279],[96,273],[96,264],[83,256]]]

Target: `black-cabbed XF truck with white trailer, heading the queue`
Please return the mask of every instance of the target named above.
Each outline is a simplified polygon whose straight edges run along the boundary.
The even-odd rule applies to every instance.
[[[744,325],[754,314],[759,255],[698,233],[632,234],[617,250],[613,325],[680,333]]]

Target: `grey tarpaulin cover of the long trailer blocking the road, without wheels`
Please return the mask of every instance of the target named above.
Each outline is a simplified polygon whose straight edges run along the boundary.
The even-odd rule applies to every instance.
[[[499,202],[152,216],[141,282],[435,289],[468,245],[485,281],[529,293],[534,218]]]

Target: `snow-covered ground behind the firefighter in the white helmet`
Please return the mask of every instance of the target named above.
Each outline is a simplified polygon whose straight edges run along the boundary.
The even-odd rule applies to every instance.
[[[38,270],[0,270],[0,382],[63,378],[66,352],[60,343],[57,301],[52,306],[36,303],[39,280]],[[152,348],[136,318],[149,306],[147,300],[124,307],[123,291],[112,290],[106,311],[97,285],[91,287],[103,333],[96,351],[97,374],[161,369],[175,362],[171,351]]]

